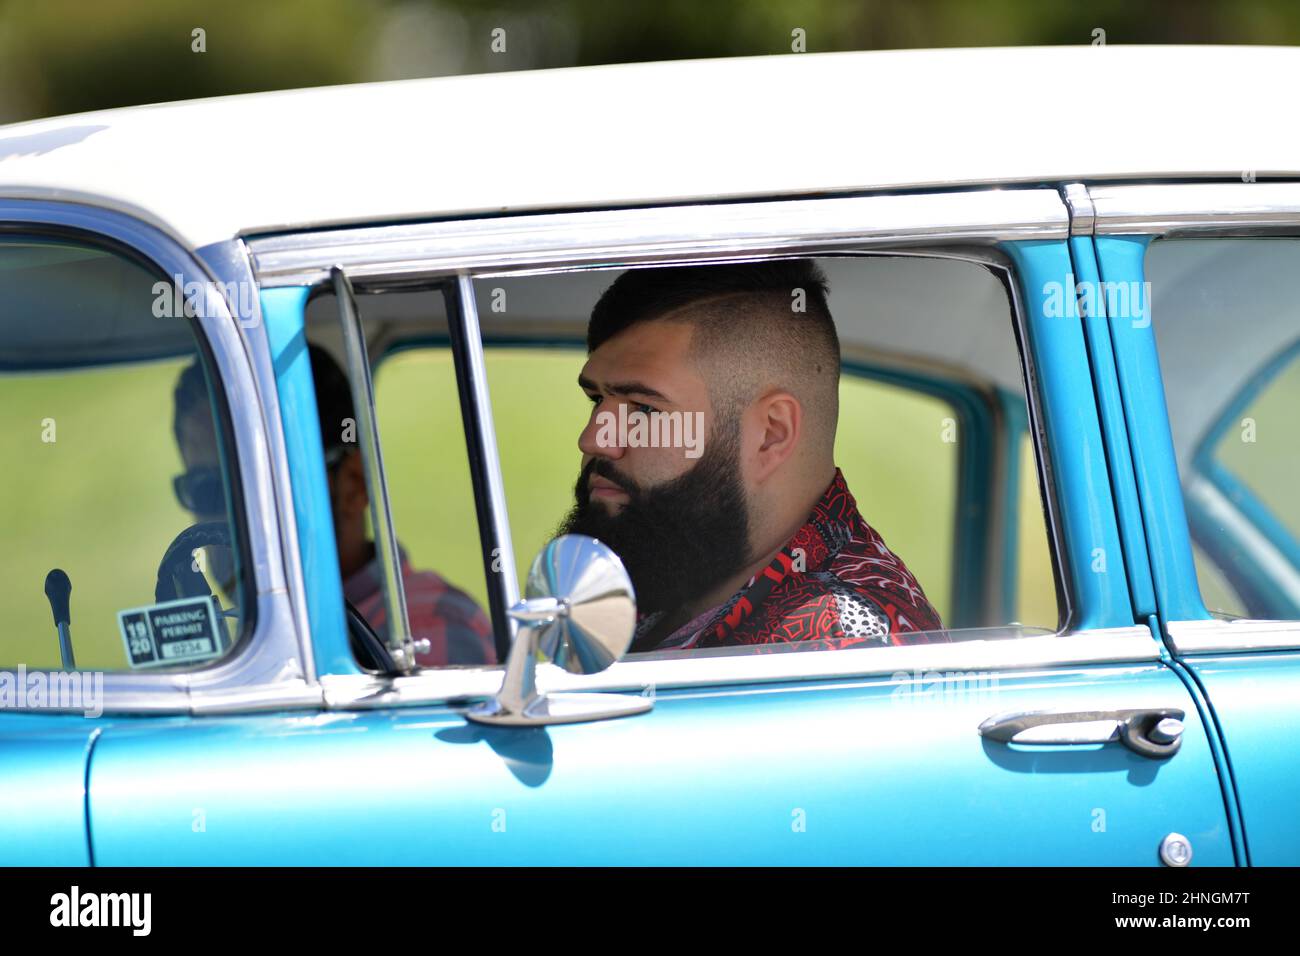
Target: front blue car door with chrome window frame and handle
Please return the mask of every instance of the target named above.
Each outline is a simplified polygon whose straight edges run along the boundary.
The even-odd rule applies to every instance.
[[[1117,520],[1054,190],[560,213],[529,226],[526,250],[508,220],[251,242],[255,268],[265,263],[268,364],[324,706],[139,722],[108,736],[91,773],[96,862],[1240,861],[1196,685],[1135,609],[1149,572]],[[588,676],[542,665],[546,692],[642,695],[653,706],[536,727],[465,719],[495,692],[499,669],[361,672],[328,559],[328,492],[302,376],[306,303],[330,265],[381,289],[419,274],[448,295],[481,559],[508,640],[500,609],[517,598],[511,533],[523,522],[502,476],[510,436],[494,427],[484,362],[485,341],[504,333],[476,306],[472,264],[545,272],[649,265],[670,247],[689,261],[828,246],[902,248],[904,259],[959,261],[991,278],[1005,321],[1000,360],[1030,382],[1057,627],[954,628],[949,643],[916,646],[651,656]],[[948,303],[954,321],[961,302]],[[919,328],[931,341],[940,332]],[[967,334],[963,355],[987,347]],[[202,692],[195,702],[203,708]]]

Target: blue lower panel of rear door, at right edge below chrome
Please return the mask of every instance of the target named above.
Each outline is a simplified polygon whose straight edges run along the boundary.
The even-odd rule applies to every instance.
[[[1223,734],[1252,866],[1300,865],[1300,656],[1188,658]]]

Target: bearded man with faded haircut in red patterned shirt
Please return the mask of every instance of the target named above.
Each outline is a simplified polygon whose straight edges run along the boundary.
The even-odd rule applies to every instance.
[[[835,464],[840,345],[814,263],[629,271],[586,346],[560,532],[623,559],[633,652],[948,640]]]

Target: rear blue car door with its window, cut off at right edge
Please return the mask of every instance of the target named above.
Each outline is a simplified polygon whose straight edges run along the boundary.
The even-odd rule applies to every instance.
[[[1222,731],[1253,865],[1300,861],[1300,186],[1093,187],[1165,641]]]

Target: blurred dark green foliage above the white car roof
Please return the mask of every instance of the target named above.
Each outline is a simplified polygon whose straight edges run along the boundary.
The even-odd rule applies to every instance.
[[[205,52],[192,49],[195,29]],[[1096,30],[1106,43],[1294,44],[1300,3],[0,0],[0,121],[365,79],[786,53],[794,30],[807,52],[1086,44]]]

